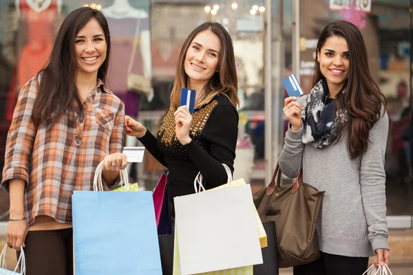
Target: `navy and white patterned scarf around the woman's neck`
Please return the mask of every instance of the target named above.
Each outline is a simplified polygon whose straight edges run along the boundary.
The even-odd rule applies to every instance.
[[[346,93],[344,87],[341,93]],[[310,91],[301,111],[303,122],[302,141],[311,144],[315,148],[324,148],[335,141],[339,130],[337,119],[337,104],[328,101],[328,86],[320,80]],[[340,121],[346,124],[348,121],[347,111],[340,110]]]

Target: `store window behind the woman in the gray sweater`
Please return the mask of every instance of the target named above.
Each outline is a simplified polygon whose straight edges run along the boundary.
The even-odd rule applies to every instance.
[[[411,216],[413,125],[408,84],[411,16],[409,3],[391,0],[350,1],[350,4],[347,2],[301,1],[301,85],[305,91],[310,91],[315,47],[321,30],[337,19],[357,25],[368,49],[370,73],[388,102],[390,129],[385,154],[388,215]]]

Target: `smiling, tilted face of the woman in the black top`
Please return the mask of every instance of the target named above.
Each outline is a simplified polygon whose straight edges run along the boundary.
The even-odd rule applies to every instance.
[[[198,33],[188,47],[184,60],[190,83],[207,83],[218,70],[221,41],[210,30]]]

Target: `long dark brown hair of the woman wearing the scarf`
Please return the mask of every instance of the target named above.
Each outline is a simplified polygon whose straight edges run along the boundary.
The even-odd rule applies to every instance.
[[[350,62],[348,67],[348,79],[345,84],[346,94],[337,94],[335,104],[337,110],[346,109],[348,112],[348,124],[339,124],[339,138],[347,129],[348,148],[350,156],[355,159],[366,152],[368,133],[374,123],[380,118],[381,108],[386,106],[384,95],[370,76],[366,45],[360,30],[350,22],[334,21],[321,32],[317,43],[317,52],[320,54],[326,40],[332,36],[343,37],[348,44]],[[315,76],[313,85],[319,80],[326,80],[321,74],[320,64],[315,58]]]

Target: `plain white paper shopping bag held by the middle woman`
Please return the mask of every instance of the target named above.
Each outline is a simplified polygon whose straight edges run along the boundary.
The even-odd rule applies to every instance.
[[[249,184],[174,200],[182,274],[263,263]]]

